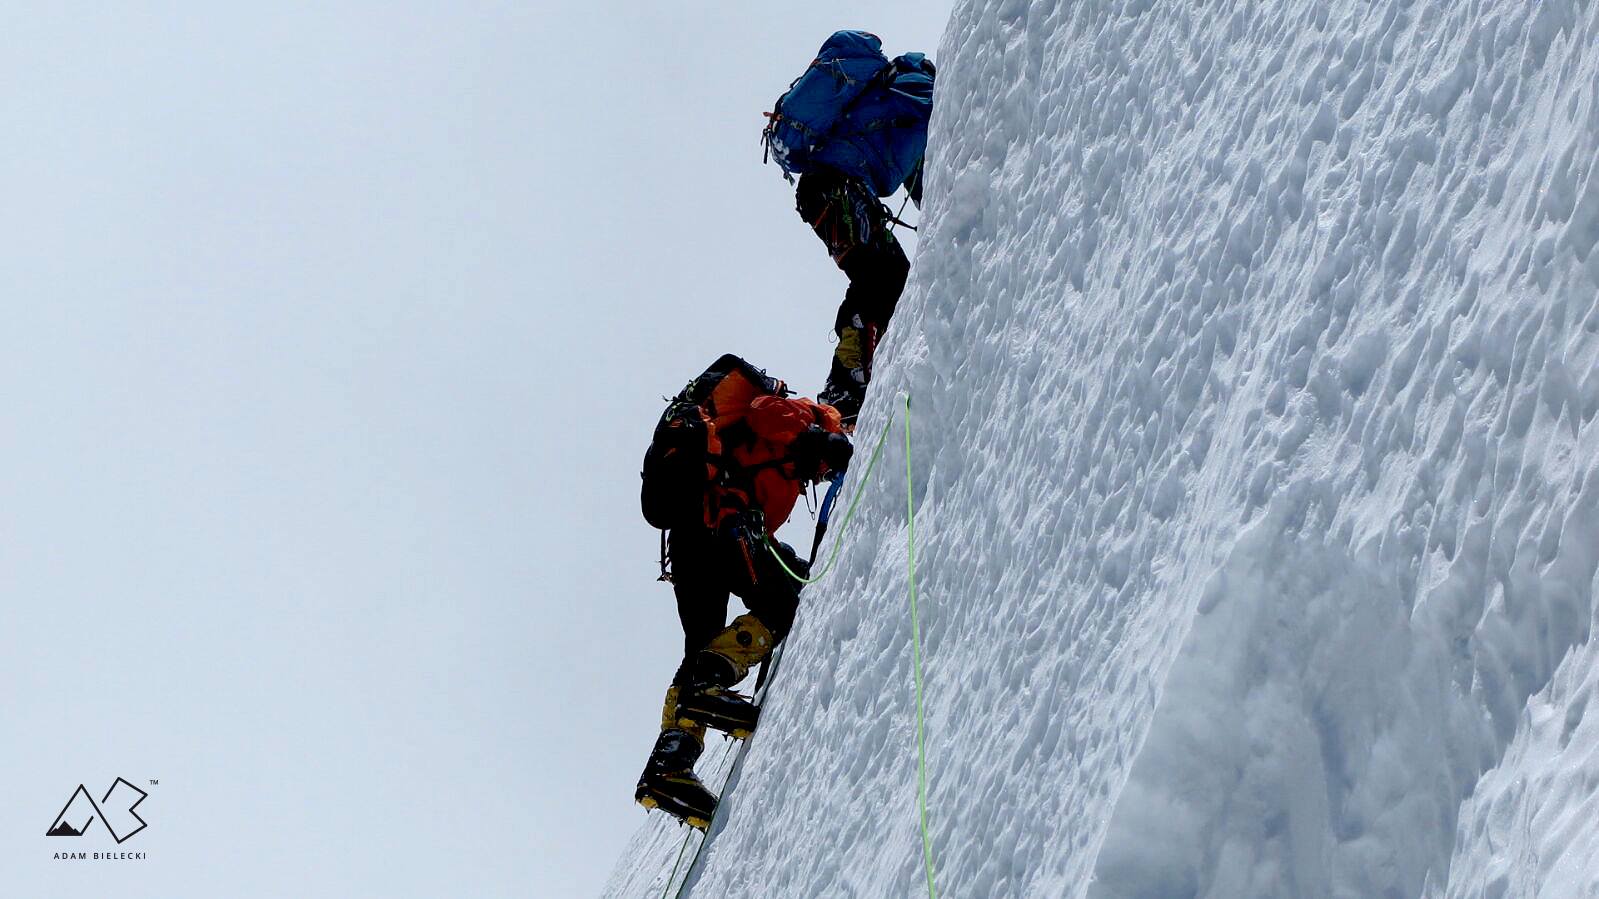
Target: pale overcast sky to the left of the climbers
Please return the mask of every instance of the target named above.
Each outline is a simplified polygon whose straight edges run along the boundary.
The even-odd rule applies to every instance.
[[[0,13],[0,894],[595,894],[660,398],[830,354],[761,112],[948,3],[110,6]]]

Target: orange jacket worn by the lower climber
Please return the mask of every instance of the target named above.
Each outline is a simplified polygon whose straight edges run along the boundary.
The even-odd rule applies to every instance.
[[[747,430],[740,424],[748,426]],[[831,434],[844,432],[838,410],[803,397],[756,397],[739,422],[729,427],[718,422],[723,456],[736,467],[726,485],[712,489],[705,523],[715,528],[739,512],[760,509],[766,515],[766,531],[776,533],[788,520],[804,485],[823,475],[820,465],[801,472],[788,457],[795,438],[812,424]]]

